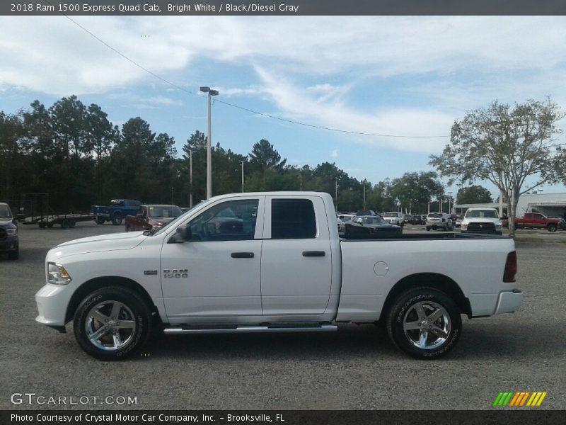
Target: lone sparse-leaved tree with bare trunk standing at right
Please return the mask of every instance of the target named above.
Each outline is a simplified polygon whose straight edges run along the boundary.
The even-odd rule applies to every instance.
[[[550,98],[513,107],[495,101],[454,121],[450,143],[442,154],[431,155],[430,164],[450,178],[449,184],[455,180],[495,184],[506,194],[509,235],[514,237],[519,196],[564,178],[566,152],[555,142],[560,133],[556,122],[564,116]]]

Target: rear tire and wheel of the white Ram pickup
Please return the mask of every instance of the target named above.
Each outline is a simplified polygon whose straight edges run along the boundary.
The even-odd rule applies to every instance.
[[[417,315],[419,305],[422,307],[420,314],[424,312],[424,322]],[[442,315],[432,323],[427,322],[426,319],[433,314]],[[405,326],[417,328],[405,329]],[[462,333],[462,318],[460,309],[449,295],[423,286],[407,290],[395,299],[387,314],[386,328],[391,341],[401,351],[414,358],[432,360],[454,348]],[[415,345],[420,343],[423,335],[426,348]]]

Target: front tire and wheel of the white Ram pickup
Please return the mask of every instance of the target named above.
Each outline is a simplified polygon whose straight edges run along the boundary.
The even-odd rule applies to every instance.
[[[112,319],[112,307],[116,303],[121,307],[118,310],[117,317]],[[91,317],[95,308],[103,315],[108,314],[107,322],[109,325]],[[124,322],[128,322],[133,327],[114,329],[114,326],[120,327],[120,320],[122,320],[122,326],[125,324]],[[144,346],[151,334],[152,322],[151,308],[139,293],[127,288],[110,286],[100,288],[88,294],[82,300],[74,314],[73,329],[76,341],[88,355],[103,361],[115,361],[132,356],[139,348]],[[108,329],[109,326],[111,329],[102,330],[99,339],[94,342],[89,339],[87,328],[88,331],[99,332],[104,327]],[[118,338],[122,339],[123,346],[112,348],[116,344],[114,332],[117,332]],[[106,349],[101,348],[101,346],[105,346]]]

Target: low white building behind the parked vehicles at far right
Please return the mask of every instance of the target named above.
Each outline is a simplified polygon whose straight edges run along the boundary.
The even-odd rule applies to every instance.
[[[455,204],[454,212],[464,214],[468,208],[499,210],[499,203]],[[525,193],[517,203],[517,217],[523,217],[525,212],[542,212],[548,217],[566,217],[566,193]],[[507,203],[503,203],[503,214],[507,215]]]

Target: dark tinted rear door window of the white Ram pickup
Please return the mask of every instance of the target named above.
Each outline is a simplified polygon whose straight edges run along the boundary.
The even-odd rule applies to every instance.
[[[271,239],[313,237],[316,237],[316,218],[310,199],[272,199]]]

